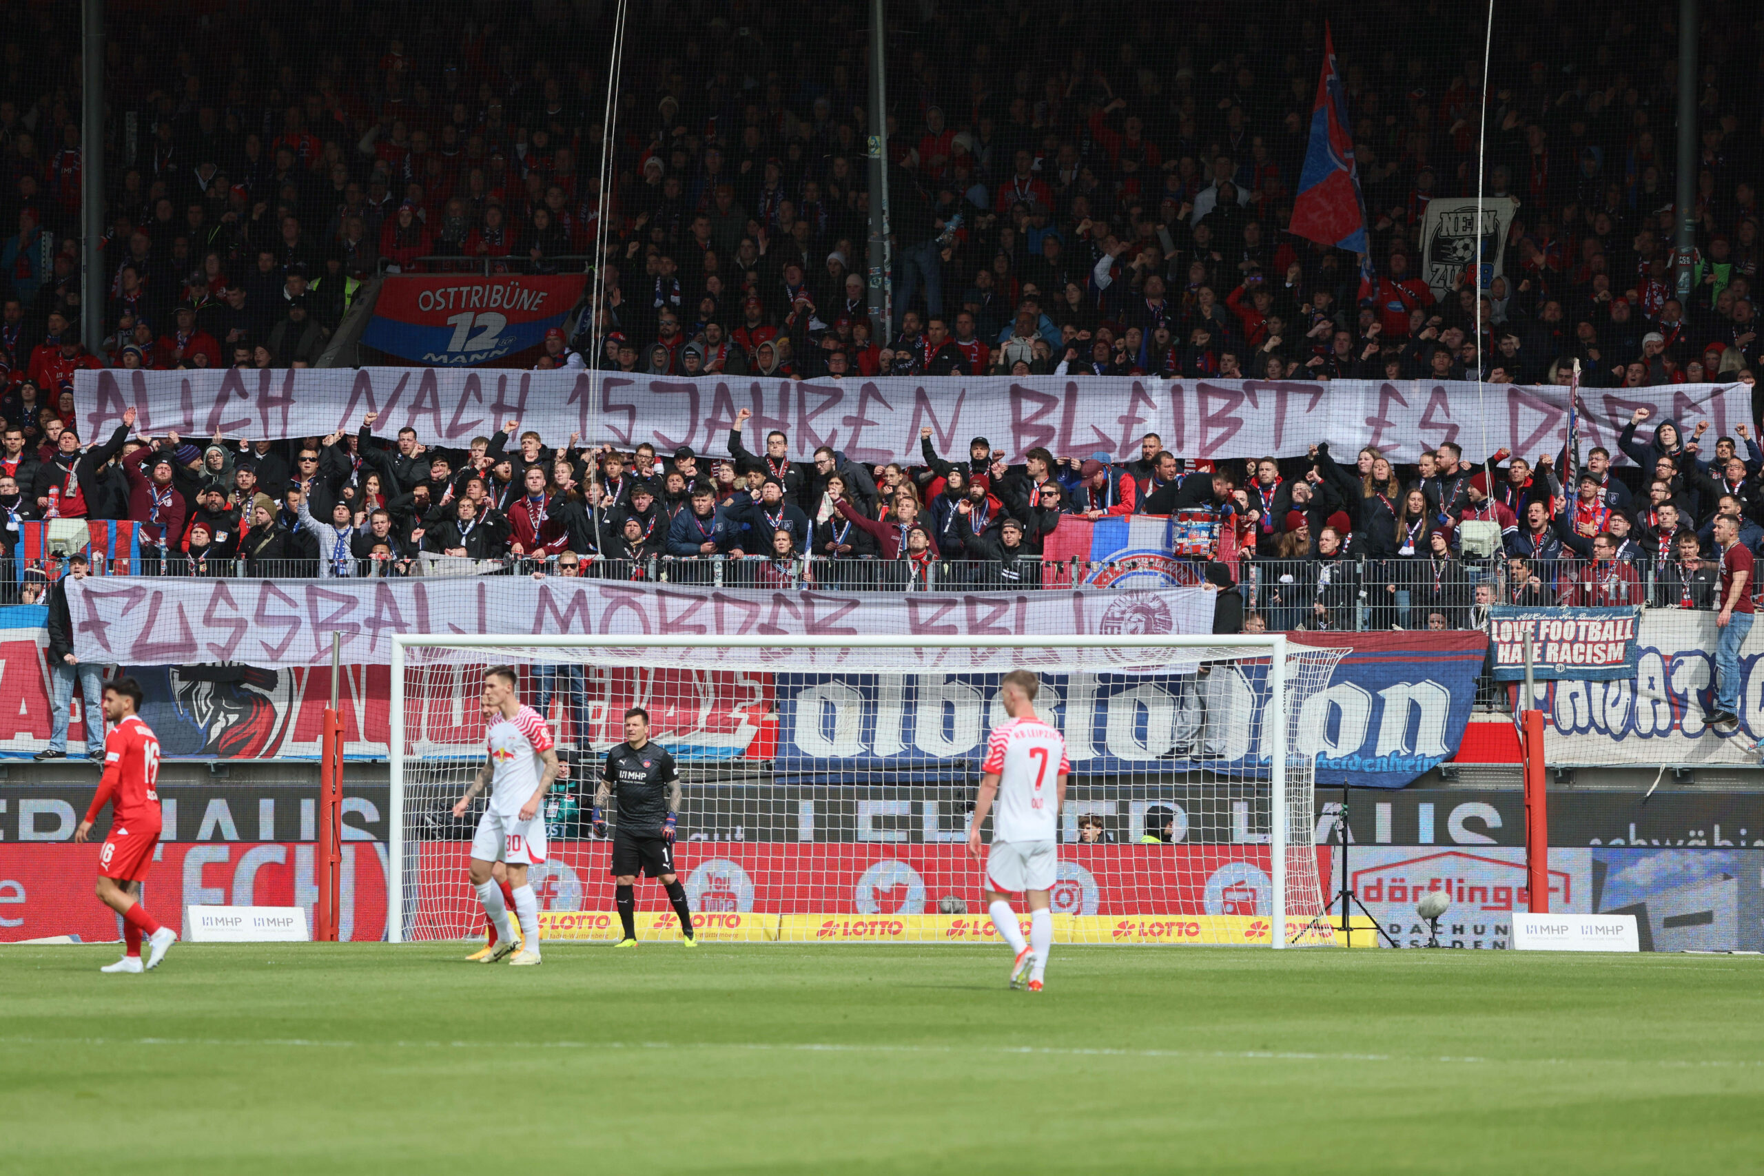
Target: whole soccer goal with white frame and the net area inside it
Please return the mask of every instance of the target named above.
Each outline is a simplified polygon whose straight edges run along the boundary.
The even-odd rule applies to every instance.
[[[482,799],[452,809],[485,756],[483,672],[506,663],[566,772],[529,875],[547,942],[619,938],[591,809],[630,707],[679,763],[674,860],[702,940],[991,940],[968,813],[998,682],[1028,668],[1073,762],[1060,942],[1334,943],[1312,765],[1342,652],[1284,635],[395,636],[388,936],[483,931],[466,880]],[[637,894],[639,938],[677,938],[662,887]]]

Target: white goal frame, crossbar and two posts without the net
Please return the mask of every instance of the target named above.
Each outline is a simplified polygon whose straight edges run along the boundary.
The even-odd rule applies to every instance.
[[[1212,635],[1212,633],[1161,633],[1161,635],[984,635],[984,636],[917,636],[917,635],[642,635],[642,633],[596,633],[596,635],[462,635],[462,633],[395,633],[392,635],[392,698],[390,698],[390,845],[393,885],[386,894],[386,936],[390,942],[404,940],[404,770],[406,770],[406,696],[404,672],[406,651],[409,649],[545,649],[545,651],[679,651],[679,649],[1145,649],[1145,651],[1217,651],[1219,658],[1244,656],[1268,658],[1268,695],[1277,702],[1277,721],[1267,723],[1267,760],[1270,785],[1270,811],[1275,815],[1268,827],[1268,855],[1272,882],[1272,945],[1284,949],[1286,936],[1286,852],[1288,852],[1288,723],[1286,712],[1286,658],[1291,649],[1284,633],[1247,633],[1247,635]],[[1110,666],[1111,672],[1132,674],[1131,665]]]

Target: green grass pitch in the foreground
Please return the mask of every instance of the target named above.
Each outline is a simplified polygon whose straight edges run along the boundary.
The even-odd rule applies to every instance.
[[[1764,961],[0,949],[5,1172],[1743,1172]]]

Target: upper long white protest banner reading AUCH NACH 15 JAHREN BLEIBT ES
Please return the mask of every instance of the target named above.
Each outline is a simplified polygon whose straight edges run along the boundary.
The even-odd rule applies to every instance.
[[[794,381],[759,377],[632,377],[617,372],[437,370],[409,367],[261,368],[180,372],[79,372],[74,402],[81,435],[104,439],[134,407],[138,432],[189,437],[307,437],[353,432],[379,413],[383,437],[415,428],[429,446],[464,448],[508,420],[545,444],[580,434],[587,444],[626,450],[651,443],[662,453],[691,446],[727,453],[739,409],[751,409],[746,446],[762,451],[773,428],[790,437],[790,457],[817,446],[854,462],[923,462],[919,428],[944,455],[965,455],[983,435],[1011,462],[1046,446],[1055,457],[1104,451],[1140,457],[1155,432],[1189,458],[1300,457],[1328,441],[1344,462],[1378,446],[1397,462],[1445,441],[1480,460],[1508,448],[1556,453],[1568,423],[1566,388],[1517,388],[1432,381],[1161,381],[1150,377],[940,377]],[[1708,420],[1716,435],[1752,420],[1746,384],[1582,388],[1582,450],[1618,451],[1630,413],[1655,421]],[[1651,427],[1649,427],[1651,428]],[[1618,460],[1625,460],[1621,453]]]

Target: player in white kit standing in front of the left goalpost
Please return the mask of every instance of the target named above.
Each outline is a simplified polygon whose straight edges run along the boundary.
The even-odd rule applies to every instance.
[[[527,885],[527,866],[545,860],[545,790],[557,779],[557,751],[552,748],[550,728],[533,707],[520,705],[519,675],[513,666],[494,666],[483,675],[483,721],[489,726],[485,742],[489,756],[471,788],[453,806],[460,818],[471,809],[473,799],[490,786],[490,802],[478,818],[478,834],[471,839],[471,885],[478,890],[483,913],[496,924],[496,950],[483,963],[496,963],[515,950],[513,927],[508,926],[508,906],[503,889],[492,871],[503,862],[515,894],[515,912],[526,931],[526,942],[512,964],[540,963],[540,903]]]

